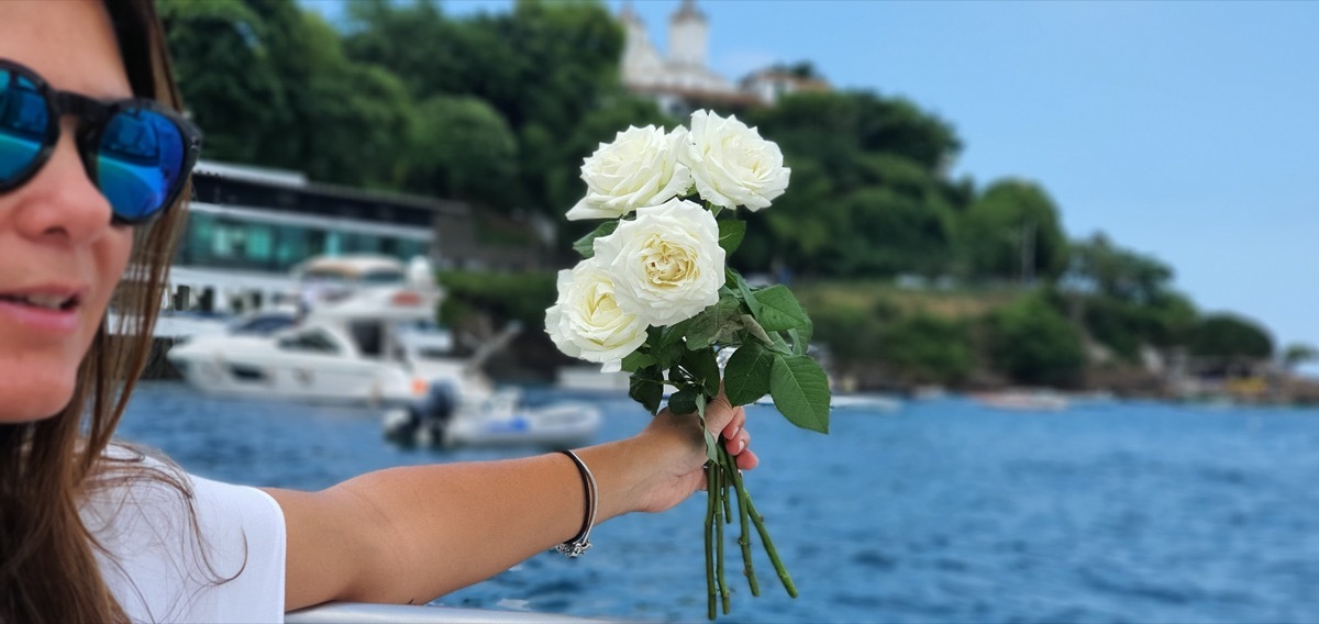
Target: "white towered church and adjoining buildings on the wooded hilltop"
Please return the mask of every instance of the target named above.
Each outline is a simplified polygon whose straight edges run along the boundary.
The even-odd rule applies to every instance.
[[[828,83],[809,71],[785,67],[764,69],[737,83],[708,67],[710,22],[695,0],[683,0],[669,18],[669,57],[660,54],[646,34],[646,26],[633,9],[619,13],[627,33],[623,49],[623,84],[632,92],[649,95],[674,116],[686,116],[702,107],[744,109],[773,106],[780,98],[798,91],[828,91]]]

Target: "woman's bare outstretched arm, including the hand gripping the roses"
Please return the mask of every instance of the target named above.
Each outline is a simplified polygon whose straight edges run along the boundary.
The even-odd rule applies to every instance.
[[[745,412],[719,396],[706,412],[739,467]],[[599,491],[596,521],[669,509],[704,487],[695,416],[667,410],[636,437],[582,449]],[[288,526],[285,608],[328,600],[423,604],[571,540],[582,528],[582,476],[562,454],[400,467],[321,492],[268,489]]]

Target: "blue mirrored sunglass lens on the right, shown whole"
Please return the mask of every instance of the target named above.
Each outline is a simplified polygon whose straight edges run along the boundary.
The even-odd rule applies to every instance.
[[[136,222],[165,207],[187,153],[174,121],[131,108],[106,124],[96,149],[96,186],[120,219]]]

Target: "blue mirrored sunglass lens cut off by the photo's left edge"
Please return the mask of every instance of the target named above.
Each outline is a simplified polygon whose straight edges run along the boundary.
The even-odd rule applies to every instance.
[[[49,125],[46,100],[36,84],[0,69],[0,185],[33,166]]]

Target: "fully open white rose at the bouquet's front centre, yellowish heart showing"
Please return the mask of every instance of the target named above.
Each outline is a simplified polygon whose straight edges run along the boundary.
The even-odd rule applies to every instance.
[[[637,218],[595,239],[624,310],[654,326],[691,318],[719,301],[724,249],[708,210],[685,199],[637,208]]]

